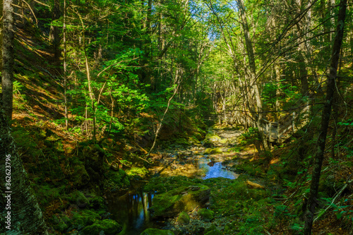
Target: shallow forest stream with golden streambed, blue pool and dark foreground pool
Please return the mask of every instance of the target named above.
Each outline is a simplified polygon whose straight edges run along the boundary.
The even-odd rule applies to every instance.
[[[217,133],[221,137],[214,147],[222,147],[226,152],[229,146],[234,145],[234,141],[240,135],[239,131],[225,131]],[[169,157],[160,160],[159,166],[155,167],[155,176],[188,176],[198,179],[210,179],[223,177],[227,179],[237,179],[239,174],[229,171],[222,165],[222,161],[230,159],[234,155],[200,155],[205,147],[202,145],[192,145],[180,151],[179,146],[175,146],[178,153],[169,154]],[[170,150],[169,150],[170,151]],[[121,195],[112,193],[107,195],[108,211],[112,213],[112,219],[123,225],[123,231],[119,235],[138,235],[147,228],[165,227],[164,221],[150,219],[149,208],[152,205],[153,193],[143,193],[140,186]]]

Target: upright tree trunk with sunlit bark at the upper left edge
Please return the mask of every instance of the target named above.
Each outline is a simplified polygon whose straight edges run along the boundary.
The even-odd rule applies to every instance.
[[[4,0],[2,28],[2,101],[8,119],[12,119],[13,109],[13,1]]]

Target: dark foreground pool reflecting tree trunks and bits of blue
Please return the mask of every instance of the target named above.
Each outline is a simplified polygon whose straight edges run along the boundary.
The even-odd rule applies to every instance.
[[[150,221],[148,208],[152,205],[153,193],[130,191],[124,195],[109,195],[108,210],[117,222],[123,225],[119,235],[140,234],[149,227],[155,227]]]

